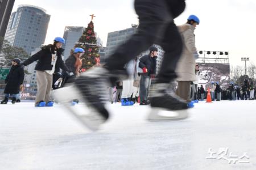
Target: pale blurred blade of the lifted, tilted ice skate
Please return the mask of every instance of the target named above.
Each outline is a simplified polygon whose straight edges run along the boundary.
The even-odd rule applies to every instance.
[[[55,90],[53,96],[55,97],[55,100],[58,103],[63,104],[63,106],[68,109],[69,113],[76,117],[82,125],[92,131],[96,131],[106,120],[98,115],[95,109],[88,107],[84,102],[77,106],[72,106],[70,102],[73,99],[79,99],[79,94],[80,92],[76,87],[64,87]]]

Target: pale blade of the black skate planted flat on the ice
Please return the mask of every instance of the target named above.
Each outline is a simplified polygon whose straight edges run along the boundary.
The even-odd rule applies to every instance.
[[[188,117],[188,109],[179,111],[168,111],[166,109],[151,108],[148,121],[175,121]]]

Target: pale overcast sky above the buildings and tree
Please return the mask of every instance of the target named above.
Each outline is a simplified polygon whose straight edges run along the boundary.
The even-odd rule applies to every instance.
[[[134,0],[16,0],[18,5],[42,7],[51,15],[46,44],[54,37],[63,36],[66,25],[84,26],[94,18],[94,29],[104,41],[108,32],[129,28],[138,19],[133,9]],[[177,25],[186,22],[190,14],[197,15],[201,23],[197,27],[198,50],[230,52],[230,63],[242,65],[241,57],[250,57],[256,63],[256,2],[255,0],[187,0],[186,10],[175,20]],[[243,64],[244,65],[244,64]]]

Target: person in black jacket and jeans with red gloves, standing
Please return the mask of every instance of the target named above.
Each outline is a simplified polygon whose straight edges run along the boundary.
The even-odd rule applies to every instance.
[[[156,56],[158,54],[158,48],[155,46],[150,47],[150,53],[139,59],[139,67],[142,69],[141,84],[139,87],[139,96],[141,97],[140,105],[148,105],[150,102],[147,100],[148,90],[151,84],[151,78],[154,78],[156,74]]]

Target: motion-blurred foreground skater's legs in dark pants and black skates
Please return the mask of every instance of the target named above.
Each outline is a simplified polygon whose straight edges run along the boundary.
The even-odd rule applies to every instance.
[[[148,120],[176,120],[188,116],[188,104],[174,93],[168,92],[170,82],[177,78],[175,73],[177,62],[183,51],[183,42],[174,23],[174,19],[185,9],[184,0],[135,0],[135,11],[139,16],[137,33],[130,40],[119,46],[108,58],[106,65],[88,70],[76,80],[72,86],[57,90],[56,98],[79,120],[92,130],[109,118],[106,109],[106,86],[113,86],[115,80],[127,79],[124,68],[126,63],[152,44],[162,46],[164,53],[163,63],[156,76],[154,88],[150,90],[151,112]],[[115,79],[115,80],[114,80]],[[111,85],[106,85],[111,84]],[[80,111],[70,107],[69,100],[77,96],[90,109],[88,114],[81,116]],[[167,111],[167,115],[160,116],[159,111]],[[174,116],[170,111],[179,111]]]

